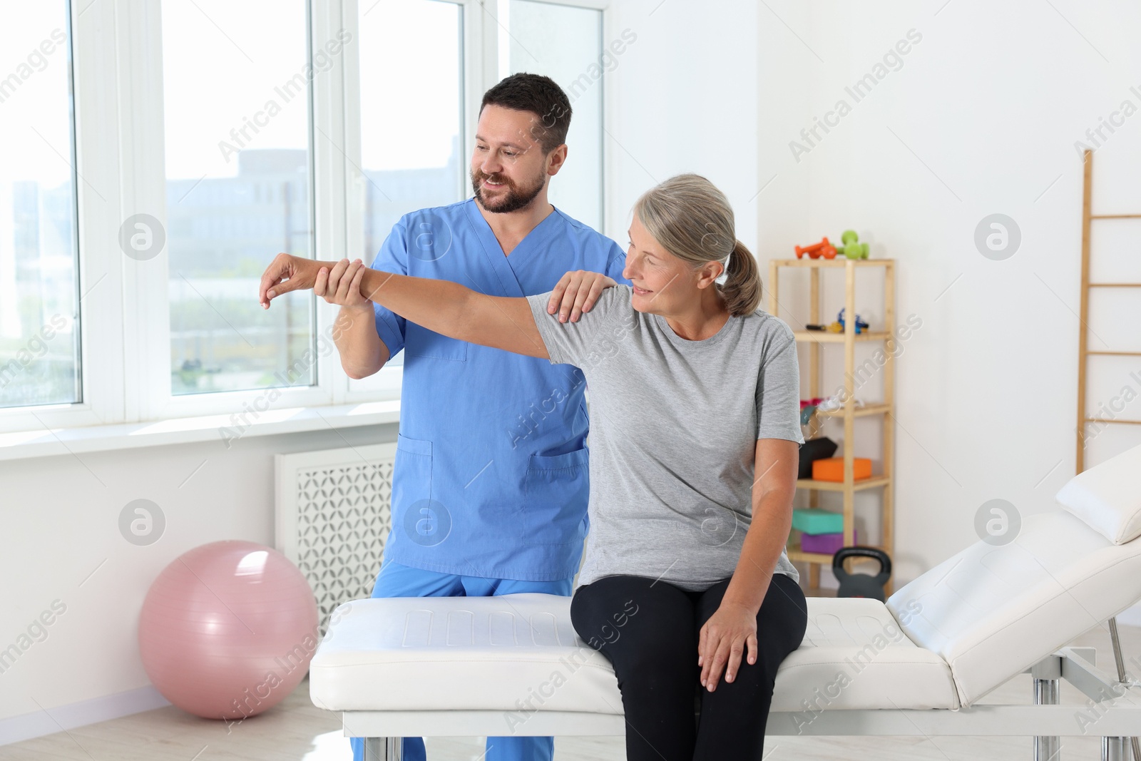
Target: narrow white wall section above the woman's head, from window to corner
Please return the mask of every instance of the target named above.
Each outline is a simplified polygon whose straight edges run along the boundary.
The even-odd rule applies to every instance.
[[[681,172],[704,175],[733,203],[738,237],[756,245],[756,8],[620,0],[604,38],[637,35],[606,74],[606,233],[626,245],[630,209]]]

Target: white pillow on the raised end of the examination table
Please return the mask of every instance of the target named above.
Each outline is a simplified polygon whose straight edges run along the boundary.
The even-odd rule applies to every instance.
[[[1141,536],[1141,446],[1069,479],[1054,497],[1114,544]]]

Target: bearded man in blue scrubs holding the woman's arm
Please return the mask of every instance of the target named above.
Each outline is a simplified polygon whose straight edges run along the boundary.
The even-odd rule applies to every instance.
[[[547,200],[569,123],[570,103],[547,76],[513,74],[489,89],[471,154],[475,199],[402,217],[372,268],[502,297],[590,270],[599,275],[568,289],[576,305],[589,296],[588,308],[614,284],[605,276],[629,283],[622,249]],[[372,596],[570,594],[588,529],[582,372],[406,322],[365,299],[363,265],[346,264],[315,288],[353,322],[337,341],[345,372],[365,378],[404,349],[393,531]],[[350,742],[361,761],[363,739]],[[553,752],[551,737],[487,738],[488,761]],[[406,738],[403,759],[422,761],[423,742]]]

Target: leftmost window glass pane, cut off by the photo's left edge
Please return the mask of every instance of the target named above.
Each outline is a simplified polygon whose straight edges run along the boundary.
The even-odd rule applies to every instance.
[[[34,2],[0,24],[0,407],[82,400],[67,18]]]

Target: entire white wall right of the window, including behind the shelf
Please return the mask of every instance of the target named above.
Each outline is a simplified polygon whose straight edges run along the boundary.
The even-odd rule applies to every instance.
[[[1075,468],[1082,165],[1074,144],[1122,100],[1141,106],[1141,9],[1029,0],[617,6],[615,26],[639,37],[607,80],[610,235],[623,240],[638,193],[693,170],[729,195],[738,237],[762,266],[849,227],[872,241],[872,256],[898,262],[897,322],[914,315],[922,327],[896,371],[897,580],[976,541],[974,515],[987,500],[1023,515],[1051,509]],[[909,30],[922,39],[856,103],[844,88]],[[840,98],[851,112],[796,161],[790,141]],[[1141,114],[1106,135],[1094,212],[1141,212]],[[1022,236],[1001,261],[973,242],[979,221],[996,212]],[[1100,264],[1104,278],[1141,281],[1141,225],[1094,225],[1094,277]],[[782,277],[779,316],[790,323],[808,319],[807,282]],[[1095,309],[1091,348],[1139,350],[1139,294],[1117,296],[1095,297],[1104,308]],[[881,303],[874,282],[860,288],[858,311],[873,326]],[[842,305],[840,281],[826,284],[825,317]],[[842,354],[825,353],[825,378],[836,382]],[[1141,392],[1130,375],[1141,378],[1138,358],[1094,362],[1091,408],[1126,386]],[[879,398],[877,382],[857,396]],[[1141,403],[1116,414],[1141,419]],[[1090,462],[1138,443],[1141,428],[1106,428]],[[876,423],[859,423],[857,454],[875,460],[879,446]],[[873,536],[877,502],[869,493],[857,500],[858,526]]]

